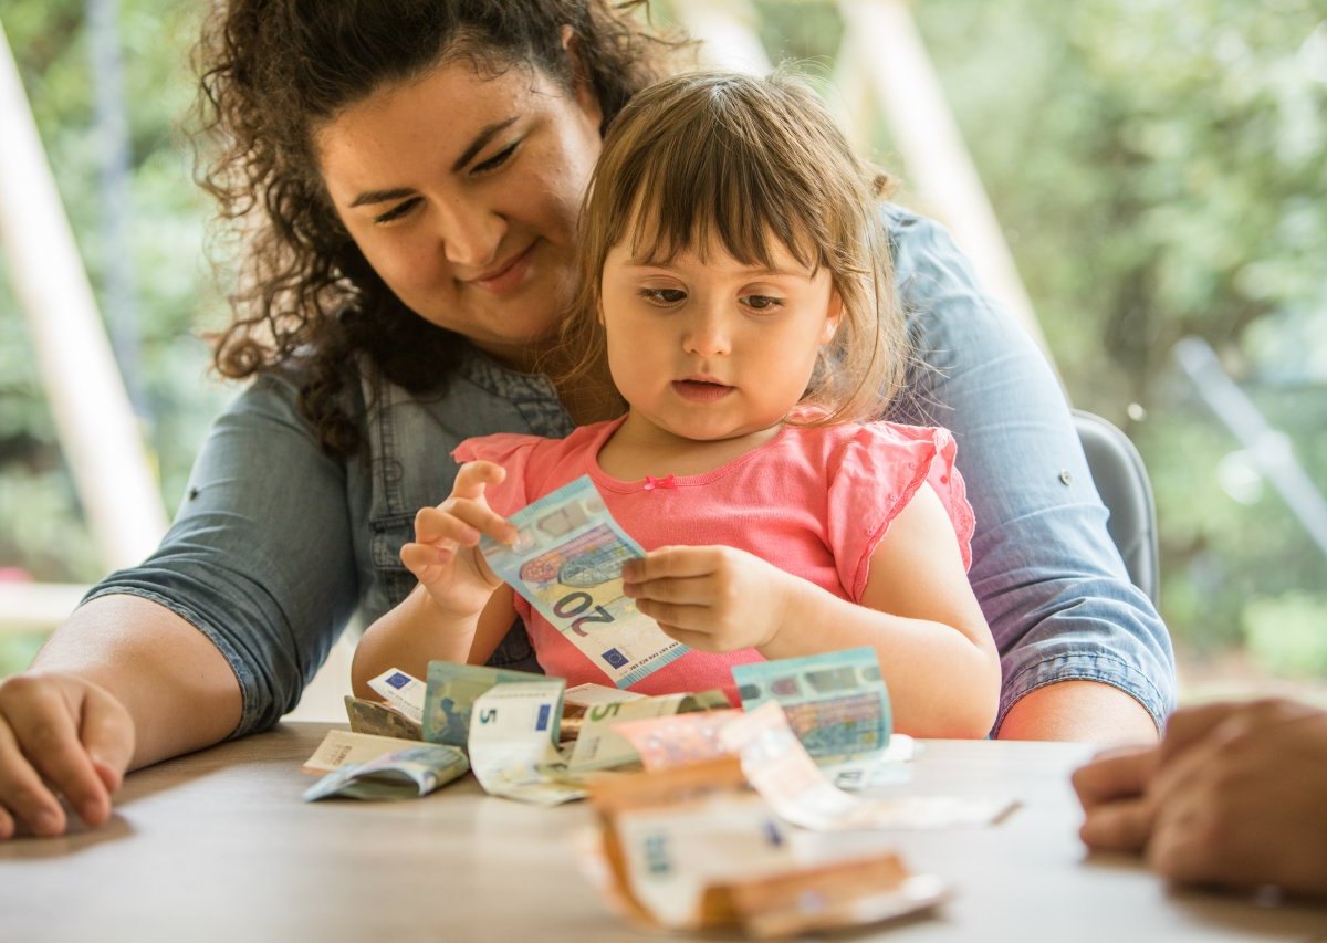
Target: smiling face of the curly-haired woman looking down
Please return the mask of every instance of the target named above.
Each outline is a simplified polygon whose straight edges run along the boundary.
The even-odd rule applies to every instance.
[[[600,122],[588,89],[460,60],[353,105],[316,146],[337,214],[397,297],[528,369],[571,301]]]

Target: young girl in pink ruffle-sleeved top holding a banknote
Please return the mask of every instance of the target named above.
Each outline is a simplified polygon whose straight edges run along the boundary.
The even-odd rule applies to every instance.
[[[608,371],[626,412],[455,450],[451,496],[401,553],[419,585],[360,642],[357,690],[391,666],[483,663],[514,613],[547,672],[605,683],[478,550],[588,473],[648,550],[626,594],[691,649],[632,690],[731,687],[734,664],[869,645],[900,731],[985,736],[999,659],[966,578],[953,438],[864,422],[906,359],[882,184],[790,78],[691,73],[637,94],[583,207],[563,345],[581,357],[560,375],[576,402]]]

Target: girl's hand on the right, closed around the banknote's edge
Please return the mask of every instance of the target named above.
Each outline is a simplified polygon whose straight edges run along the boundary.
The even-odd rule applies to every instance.
[[[661,546],[622,568],[622,590],[637,609],[699,651],[774,641],[795,580],[731,546]]]

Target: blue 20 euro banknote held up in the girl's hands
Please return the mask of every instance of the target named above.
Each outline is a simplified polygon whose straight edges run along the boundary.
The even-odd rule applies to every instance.
[[[622,564],[645,550],[608,513],[588,475],[508,520],[518,531],[512,546],[480,541],[488,565],[617,687],[687,653],[622,594]]]

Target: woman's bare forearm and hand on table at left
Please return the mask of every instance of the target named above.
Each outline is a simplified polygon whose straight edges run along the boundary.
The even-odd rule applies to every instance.
[[[89,602],[0,682],[0,840],[17,821],[61,834],[61,796],[104,824],[127,769],[216,743],[239,718],[235,672],[194,626],[135,597]]]

